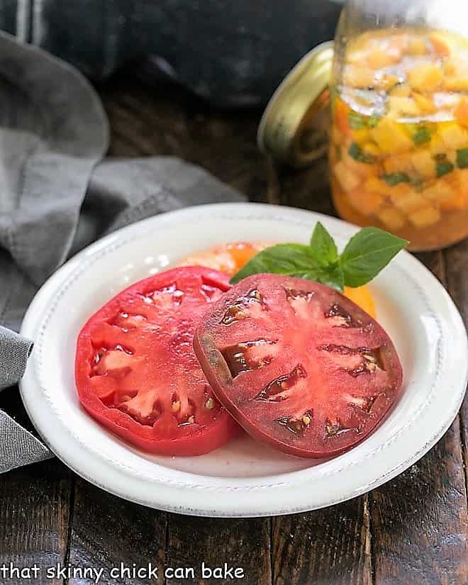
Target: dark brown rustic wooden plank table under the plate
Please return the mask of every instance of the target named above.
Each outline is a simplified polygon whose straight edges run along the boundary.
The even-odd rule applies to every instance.
[[[324,161],[293,172],[255,145],[259,112],[212,111],[174,87],[145,87],[120,75],[101,88],[111,154],[176,155],[235,186],[252,201],[334,213]],[[418,255],[468,319],[468,240]],[[4,393],[6,394],[6,393]],[[0,406],[26,420],[13,393]],[[0,567],[160,567],[167,585],[220,579],[162,579],[163,567],[243,567],[244,585],[466,585],[468,406],[428,455],[364,496],[280,518],[215,520],[150,510],[106,494],[56,459],[0,475]],[[11,579],[8,584],[91,584],[92,579]],[[155,582],[155,581],[152,581]]]

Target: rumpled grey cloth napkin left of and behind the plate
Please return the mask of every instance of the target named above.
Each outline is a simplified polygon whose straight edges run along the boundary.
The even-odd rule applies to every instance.
[[[26,369],[18,333],[38,287],[104,233],[184,206],[242,201],[173,157],[105,159],[101,101],[73,67],[0,33],[0,390]],[[0,410],[0,472],[51,457]]]

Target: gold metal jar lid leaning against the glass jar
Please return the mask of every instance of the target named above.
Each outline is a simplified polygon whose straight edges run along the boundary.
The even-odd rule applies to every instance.
[[[326,152],[333,40],[302,57],[269,100],[258,127],[258,147],[274,159],[306,167]]]

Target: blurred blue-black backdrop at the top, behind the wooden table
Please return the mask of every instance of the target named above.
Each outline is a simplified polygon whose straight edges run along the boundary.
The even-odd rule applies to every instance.
[[[340,7],[340,0],[0,0],[0,28],[94,80],[135,62],[147,80],[165,74],[218,106],[252,106],[333,38]]]

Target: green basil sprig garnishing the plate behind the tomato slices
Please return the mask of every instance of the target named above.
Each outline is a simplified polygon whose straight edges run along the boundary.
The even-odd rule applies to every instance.
[[[406,240],[391,233],[378,228],[362,228],[338,254],[335,241],[318,222],[309,245],[267,247],[252,257],[230,282],[236,284],[250,274],[271,272],[315,280],[342,291],[345,285],[362,286],[371,281],[406,245]]]

